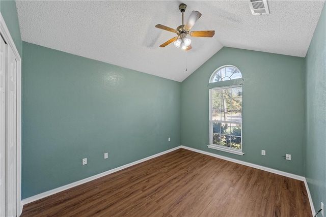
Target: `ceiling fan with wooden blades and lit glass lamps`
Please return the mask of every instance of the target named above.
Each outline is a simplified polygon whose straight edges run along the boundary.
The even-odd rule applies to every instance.
[[[196,21],[202,16],[201,13],[198,11],[193,11],[191,15],[189,16],[186,24],[183,24],[183,13],[185,12],[186,9],[185,4],[180,4],[179,10],[182,13],[182,25],[179,25],[177,29],[170,28],[165,25],[157,24],[155,25],[156,28],[164,29],[172,33],[176,33],[178,36],[170,39],[169,41],[163,43],[160,45],[160,47],[165,47],[172,42],[174,42],[174,46],[179,48],[181,46],[181,49],[183,50],[190,50],[192,49],[191,46],[191,40],[187,38],[188,35],[192,37],[213,37],[215,34],[214,30],[205,30],[205,31],[193,31],[189,32],[190,29],[195,25]]]

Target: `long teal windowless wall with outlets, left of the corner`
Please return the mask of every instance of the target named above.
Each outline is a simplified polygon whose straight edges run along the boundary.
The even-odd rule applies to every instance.
[[[22,59],[23,199],[180,145],[181,83],[26,42]]]

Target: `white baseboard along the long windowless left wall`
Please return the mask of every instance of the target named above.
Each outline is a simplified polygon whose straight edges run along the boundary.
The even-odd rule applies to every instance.
[[[149,156],[149,157],[147,157],[147,158],[143,158],[143,159],[141,159],[141,160],[134,161],[134,162],[131,162],[131,163],[129,163],[129,164],[123,165],[123,166],[121,166],[121,167],[117,167],[117,168],[114,168],[114,169],[112,169],[112,170],[108,170],[108,171],[102,172],[102,173],[100,173],[100,174],[97,174],[97,175],[94,175],[94,176],[91,176],[91,177],[88,177],[88,178],[85,178],[85,179],[82,179],[82,180],[79,180],[79,181],[75,181],[75,182],[70,183],[70,184],[66,184],[66,185],[64,185],[64,186],[62,186],[62,187],[59,187],[59,188],[56,188],[56,189],[52,189],[52,190],[47,191],[47,192],[43,192],[43,193],[41,193],[41,194],[34,195],[34,196],[32,196],[32,197],[29,197],[29,198],[25,198],[25,199],[23,199],[23,200],[21,201],[21,202],[22,202],[22,205],[25,205],[25,204],[28,204],[28,203],[31,203],[31,202],[34,202],[34,201],[40,200],[40,199],[42,199],[42,198],[48,197],[48,196],[53,195],[53,194],[57,194],[57,193],[59,193],[59,192],[65,191],[65,190],[67,190],[67,189],[71,189],[71,188],[76,187],[76,186],[78,186],[78,185],[80,185],[80,184],[84,184],[84,183],[89,182],[89,181],[92,181],[92,180],[94,180],[94,179],[97,179],[97,178],[100,178],[100,177],[103,177],[103,176],[109,175],[109,174],[111,174],[111,173],[117,172],[117,171],[119,171],[119,170],[123,170],[123,169],[128,168],[128,167],[131,167],[131,166],[133,166],[133,165],[136,165],[136,164],[139,164],[139,163],[142,163],[142,162],[148,161],[148,160],[150,160],[150,159],[156,158],[156,157],[158,157],[158,156],[161,156],[161,155],[163,155],[163,154],[166,154],[166,153],[169,153],[169,152],[171,152],[171,151],[177,150],[177,149],[179,149],[179,148],[181,148],[181,146],[177,146],[177,147],[175,147],[175,148],[171,148],[171,149],[169,149],[169,150],[159,152],[159,153],[154,154],[154,155],[152,155],[152,156]]]

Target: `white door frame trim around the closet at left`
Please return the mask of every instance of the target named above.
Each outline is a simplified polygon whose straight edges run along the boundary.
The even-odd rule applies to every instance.
[[[21,203],[21,57],[0,12],[0,34],[13,50],[16,66],[16,215],[22,212]]]

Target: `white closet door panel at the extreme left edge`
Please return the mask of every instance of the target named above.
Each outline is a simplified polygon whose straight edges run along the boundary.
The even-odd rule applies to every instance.
[[[5,90],[6,90],[6,43],[0,37],[0,216],[5,216],[5,194],[6,194],[6,140],[5,140]]]

